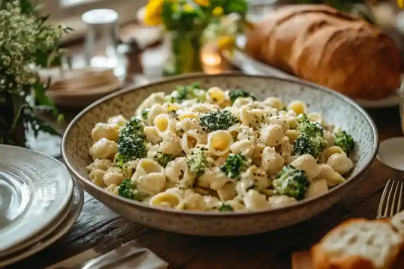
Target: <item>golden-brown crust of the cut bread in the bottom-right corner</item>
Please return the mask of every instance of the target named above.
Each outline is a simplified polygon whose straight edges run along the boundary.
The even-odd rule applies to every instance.
[[[357,218],[357,219],[350,219],[347,220],[336,227],[334,227],[331,231],[329,231],[323,239],[315,244],[311,249],[310,249],[310,254],[312,257],[312,262],[313,262],[313,269],[389,269],[395,262],[400,248],[402,248],[402,244],[400,247],[397,247],[395,253],[391,253],[391,259],[385,264],[384,267],[382,268],[376,268],[373,263],[365,259],[359,255],[349,255],[344,258],[331,258],[330,254],[325,251],[321,244],[325,239],[330,236],[335,230],[342,228],[343,226],[348,226],[351,223],[354,222],[387,222],[389,223],[388,219],[376,219],[376,220],[367,220],[364,218]]]

